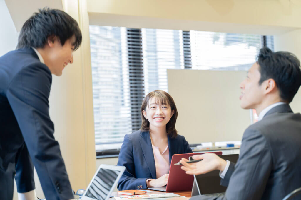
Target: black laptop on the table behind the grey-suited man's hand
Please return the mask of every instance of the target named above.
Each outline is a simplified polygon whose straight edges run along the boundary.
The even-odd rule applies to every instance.
[[[219,157],[234,163],[238,160],[238,154],[219,155]],[[189,157],[189,160],[192,159]],[[191,196],[204,195],[218,197],[224,195],[227,187],[220,185],[220,181],[219,170],[214,170],[206,174],[194,175]]]

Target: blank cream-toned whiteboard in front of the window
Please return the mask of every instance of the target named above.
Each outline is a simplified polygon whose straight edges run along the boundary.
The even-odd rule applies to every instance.
[[[241,140],[251,124],[240,108],[246,71],[167,70],[168,92],[178,109],[176,129],[189,144]]]

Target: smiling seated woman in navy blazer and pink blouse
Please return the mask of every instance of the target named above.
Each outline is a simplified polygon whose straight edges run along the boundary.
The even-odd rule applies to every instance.
[[[141,129],[125,135],[121,146],[117,165],[126,170],[118,181],[118,190],[166,185],[168,174],[157,177],[152,146],[163,154],[168,145],[169,166],[173,154],[192,153],[185,137],[177,134],[177,116],[174,100],[167,92],[155,90],[146,95],[141,106]]]

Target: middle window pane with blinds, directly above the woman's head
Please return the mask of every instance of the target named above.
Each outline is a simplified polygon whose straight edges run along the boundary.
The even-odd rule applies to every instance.
[[[145,94],[168,91],[166,69],[184,69],[182,31],[142,28],[142,42]]]

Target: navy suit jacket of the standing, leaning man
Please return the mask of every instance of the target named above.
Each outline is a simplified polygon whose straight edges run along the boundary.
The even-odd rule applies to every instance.
[[[18,192],[35,189],[33,165],[47,200],[73,198],[48,112],[51,81],[32,48],[0,57],[0,199],[12,199],[14,176]]]

